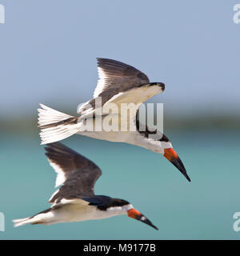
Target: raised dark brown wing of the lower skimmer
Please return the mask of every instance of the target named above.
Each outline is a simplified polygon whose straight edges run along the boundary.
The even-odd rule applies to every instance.
[[[102,170],[94,162],[60,142],[50,143],[45,149],[50,166],[57,173],[56,186],[62,185],[49,202],[94,195],[94,184],[102,175]]]

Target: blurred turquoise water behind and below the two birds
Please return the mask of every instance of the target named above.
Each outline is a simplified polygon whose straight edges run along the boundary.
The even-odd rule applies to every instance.
[[[98,221],[13,228],[49,207],[54,170],[38,136],[1,134],[0,211],[6,231],[1,239],[239,239],[233,214],[239,203],[239,142],[234,132],[186,131],[167,134],[192,179],[162,155],[123,143],[75,135],[64,141],[102,169],[95,193],[130,201],[159,230],[117,216]]]

